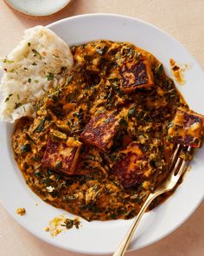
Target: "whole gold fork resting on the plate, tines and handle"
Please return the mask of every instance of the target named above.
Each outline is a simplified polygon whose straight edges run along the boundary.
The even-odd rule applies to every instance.
[[[147,199],[145,200],[143,207],[141,208],[140,212],[137,214],[136,219],[133,221],[131,228],[129,231],[125,234],[124,240],[120,243],[118,246],[118,249],[115,251],[115,253],[112,254],[112,256],[123,256],[126,252],[127,247],[129,246],[131,242],[131,238],[133,233],[135,232],[139,221],[141,220],[143,213],[147,209],[147,207],[150,206],[150,203],[156,199],[156,197],[160,194],[169,192],[172,190],[179,179],[181,178],[182,174],[186,171],[188,167],[188,161],[185,161],[181,156],[182,152],[184,150],[187,150],[188,153],[191,151],[191,147],[182,146],[181,144],[178,144],[175,148],[175,152],[172,156],[171,164],[169,167],[169,175],[163,183],[156,188],[156,190],[153,193],[150,193]]]

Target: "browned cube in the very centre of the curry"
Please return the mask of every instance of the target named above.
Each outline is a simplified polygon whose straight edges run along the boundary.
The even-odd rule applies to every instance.
[[[119,118],[112,113],[97,115],[86,124],[80,138],[82,141],[106,151],[112,147],[113,137],[119,127],[118,120]]]

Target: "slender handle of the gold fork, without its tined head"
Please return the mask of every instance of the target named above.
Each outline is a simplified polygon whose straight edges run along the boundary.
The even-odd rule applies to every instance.
[[[128,230],[128,232],[124,236],[124,240],[120,243],[118,246],[118,249],[115,251],[115,253],[112,254],[112,256],[123,256],[126,252],[127,247],[129,246],[131,242],[131,238],[133,233],[135,233],[135,230],[138,226],[139,220],[143,217],[143,213],[147,209],[147,207],[150,206],[150,203],[159,195],[162,193],[156,193],[156,194],[149,194],[145,202],[143,203],[143,207],[140,209],[139,213],[137,214],[137,217],[133,221],[131,228]]]

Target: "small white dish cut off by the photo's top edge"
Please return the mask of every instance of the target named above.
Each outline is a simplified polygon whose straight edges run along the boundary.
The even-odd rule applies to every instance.
[[[62,10],[71,0],[4,0],[11,8],[29,16],[49,16]]]

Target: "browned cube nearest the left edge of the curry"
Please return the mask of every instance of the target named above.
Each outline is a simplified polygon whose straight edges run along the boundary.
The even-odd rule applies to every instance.
[[[48,139],[48,145],[42,158],[42,166],[64,174],[74,174],[82,143],[69,137],[67,141]]]

